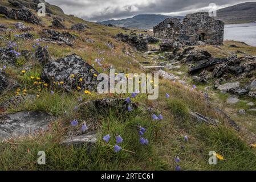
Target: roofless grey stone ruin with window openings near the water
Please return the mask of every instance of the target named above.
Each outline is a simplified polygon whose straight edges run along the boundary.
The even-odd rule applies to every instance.
[[[202,42],[221,45],[224,40],[224,25],[221,20],[201,12],[188,14],[182,21],[177,18],[167,18],[153,27],[153,33],[155,37],[168,43],[182,43],[186,46],[194,46]]]

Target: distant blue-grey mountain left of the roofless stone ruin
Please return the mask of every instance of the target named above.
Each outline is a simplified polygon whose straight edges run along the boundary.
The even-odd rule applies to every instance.
[[[126,28],[141,28],[141,29],[153,29],[154,26],[165,20],[166,18],[171,18],[172,16],[157,15],[157,14],[144,14],[136,15],[132,18],[119,19],[119,20],[106,20],[103,22],[97,22],[100,24],[113,24],[117,27]],[[174,16],[174,18],[183,19],[184,16]]]

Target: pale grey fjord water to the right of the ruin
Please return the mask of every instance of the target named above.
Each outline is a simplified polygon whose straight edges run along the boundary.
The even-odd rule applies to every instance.
[[[245,42],[256,47],[256,23],[225,25],[224,40]]]

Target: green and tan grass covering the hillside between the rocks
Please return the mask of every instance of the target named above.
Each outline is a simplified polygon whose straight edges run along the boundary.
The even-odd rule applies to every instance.
[[[2,4],[1,1],[1,5],[6,4]],[[40,46],[48,46],[48,51],[54,60],[76,53],[91,65],[95,64],[95,59],[104,58],[105,68],[97,64],[94,66],[100,73],[108,73],[109,65],[112,65],[116,72],[144,72],[139,68],[139,63],[149,58],[135,51],[128,44],[118,42],[113,38],[118,32],[129,33],[129,31],[86,22],[73,16],[63,15],[60,11],[58,16],[64,19],[63,24],[68,28],[79,22],[86,23],[90,28],[83,32],[67,30],[77,37],[74,47],[40,42]],[[42,18],[42,21],[44,27],[24,22],[27,26],[34,27],[31,34],[35,39],[40,37],[40,31],[43,28],[51,24],[52,18],[46,16]],[[14,28],[15,20],[0,18],[0,23],[13,28],[11,32],[0,32],[0,36],[3,37],[0,47],[6,47],[11,41],[17,43],[20,49],[34,52],[32,46],[36,44],[35,40],[15,37],[15,34],[21,33]],[[95,43],[85,42],[84,39],[92,39]],[[114,45],[114,48],[107,46],[109,42]],[[229,43],[222,46],[226,54],[228,53],[227,44]],[[222,55],[214,46],[202,48],[209,49],[216,55]],[[256,54],[255,48],[243,48]],[[200,88],[192,90],[192,85],[183,85],[160,78],[159,98],[150,101],[147,99],[147,94],[139,94],[132,98],[132,101],[137,103],[138,109],[131,112],[126,110],[120,112],[119,106],[109,110],[94,110],[90,107],[74,110],[75,106],[80,104],[79,97],[86,102],[99,98],[127,98],[131,95],[99,95],[96,92],[86,95],[79,90],[66,93],[62,89],[50,88],[50,86],[42,86],[39,92],[31,76],[40,77],[42,65],[32,58],[25,60],[21,56],[18,57],[17,65],[5,66],[7,76],[16,80],[21,90],[26,89],[27,94],[38,95],[38,97],[27,98],[18,106],[10,105],[7,110],[1,110],[1,114],[22,110],[40,110],[50,113],[55,117],[55,121],[51,123],[49,131],[39,133],[35,137],[2,141],[0,143],[0,170],[174,170],[177,165],[181,167],[181,170],[256,170],[256,151],[255,148],[250,148],[250,144],[255,140],[249,139],[243,131],[237,132],[230,127],[227,120],[214,111],[214,106],[206,104]],[[3,68],[1,62],[0,67]],[[26,73],[21,75],[21,71],[25,68]],[[54,91],[54,94],[51,91]],[[14,89],[1,94],[0,102],[5,102],[16,93],[17,90]],[[166,93],[170,95],[170,98],[165,97]],[[218,119],[220,125],[198,123],[190,117],[189,111]],[[163,119],[153,121],[152,114],[160,113]],[[65,136],[80,131],[80,128],[70,125],[75,118],[79,122],[86,121],[88,131],[96,131],[96,144],[80,147],[67,147],[60,144]],[[149,140],[148,146],[141,145],[139,142],[138,123],[147,129],[145,138]],[[109,140],[111,146],[104,143],[103,136],[107,134],[111,135]],[[113,151],[116,134],[124,139],[121,147],[125,151],[118,153]],[[46,152],[46,165],[39,166],[36,163],[38,151]],[[210,166],[208,164],[209,151],[216,151],[224,159],[218,160],[217,165]],[[176,156],[180,158],[179,163],[175,162]]]

